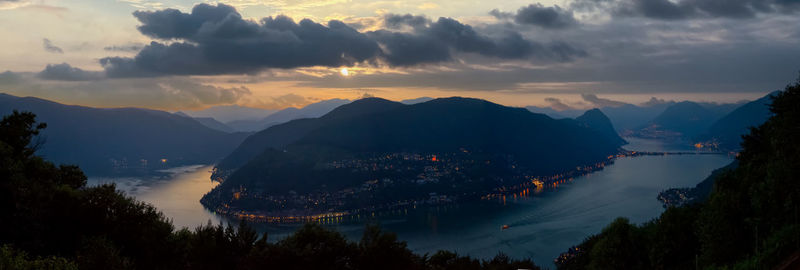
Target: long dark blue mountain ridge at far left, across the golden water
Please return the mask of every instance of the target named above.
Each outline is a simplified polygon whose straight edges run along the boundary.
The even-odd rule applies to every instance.
[[[90,175],[211,164],[246,137],[163,111],[90,108],[0,94],[0,113],[13,110],[33,112],[47,123],[38,154],[56,163],[77,164]]]

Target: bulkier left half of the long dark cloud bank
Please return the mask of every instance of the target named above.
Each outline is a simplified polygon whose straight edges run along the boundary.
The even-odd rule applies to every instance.
[[[378,44],[336,20],[327,25],[285,16],[245,20],[224,4],[200,4],[190,14],[174,9],[137,11],[139,31],[183,40],[152,42],[134,58],[100,60],[109,76],[213,75],[264,68],[348,66],[377,57]]]

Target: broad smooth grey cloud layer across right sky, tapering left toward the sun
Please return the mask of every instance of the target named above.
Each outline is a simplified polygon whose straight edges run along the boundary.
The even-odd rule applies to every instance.
[[[496,70],[453,64],[448,67],[454,70],[415,72],[413,76],[361,74],[357,80],[339,76],[292,80],[303,81],[299,86],[321,88],[416,87],[576,95],[591,92],[602,97],[602,94],[612,93],[766,93],[785,86],[797,77],[800,69],[796,41],[765,41],[748,38],[745,34],[761,34],[763,27],[790,29],[791,25],[796,25],[790,22],[800,21],[797,18],[783,18],[775,25],[758,27],[742,25],[739,21],[724,21],[722,24],[701,23],[715,25],[711,28],[697,27],[696,22],[655,22],[648,28],[666,25],[668,28],[665,29],[671,31],[668,33],[684,36],[703,36],[705,31],[716,33],[719,29],[743,35],[725,37],[725,40],[736,40],[726,43],[729,44],[726,46],[720,46],[716,41],[670,44],[672,35],[668,35],[665,42],[654,41],[647,29],[636,27],[643,24],[641,21],[643,19],[619,20],[608,25],[587,25],[558,33],[568,40],[580,41],[579,44],[592,44],[589,47],[591,57],[581,59],[579,64],[553,63],[545,68],[528,68],[488,59],[484,65],[496,67]]]

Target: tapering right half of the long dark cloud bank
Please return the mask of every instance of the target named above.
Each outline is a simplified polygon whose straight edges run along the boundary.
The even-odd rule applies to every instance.
[[[570,61],[587,55],[564,42],[540,44],[513,31],[490,37],[451,18],[428,22],[420,16],[390,14],[385,17],[385,24],[395,28],[405,24],[413,29],[411,32],[378,30],[368,33],[386,48],[383,57],[393,66],[447,61],[452,58],[451,51],[503,59],[534,56],[556,61]]]

